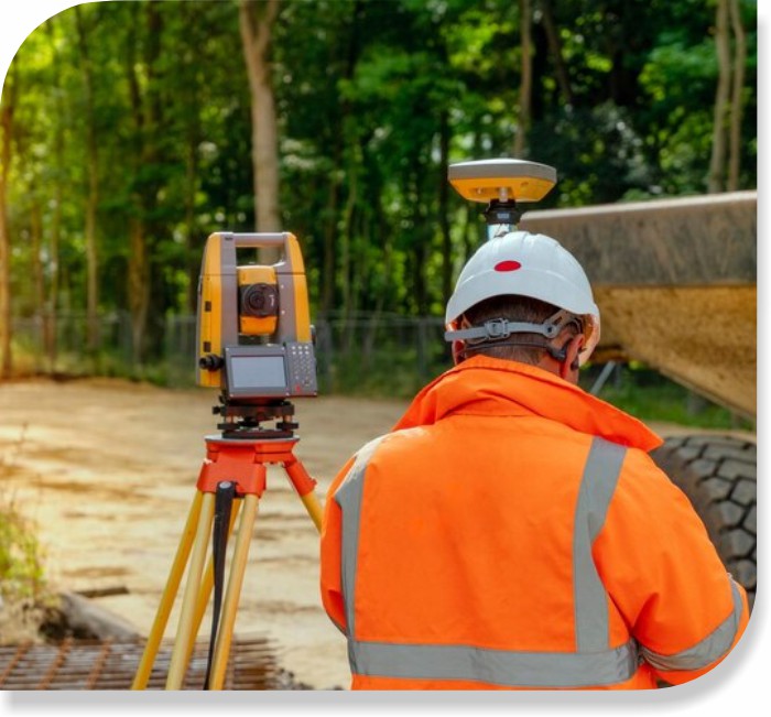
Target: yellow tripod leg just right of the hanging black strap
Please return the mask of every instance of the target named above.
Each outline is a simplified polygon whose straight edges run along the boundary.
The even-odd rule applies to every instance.
[[[236,611],[241,595],[241,586],[243,585],[243,574],[247,569],[249,545],[252,539],[258,503],[259,499],[253,493],[249,493],[243,498],[243,511],[241,513],[241,522],[238,526],[238,539],[232,555],[228,587],[225,593],[225,599],[222,600],[222,615],[219,621],[217,643],[211,662],[209,689],[221,689],[225,682],[225,671],[230,654],[232,629],[236,623]]]

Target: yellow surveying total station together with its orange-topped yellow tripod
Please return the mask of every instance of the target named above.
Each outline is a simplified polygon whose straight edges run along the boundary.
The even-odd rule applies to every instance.
[[[237,250],[273,247],[282,250],[278,263],[238,265]],[[315,480],[293,454],[300,437],[294,433],[298,424],[289,399],[317,394],[305,268],[294,235],[218,232],[208,238],[198,284],[196,352],[198,383],[220,389],[219,405],[214,409],[221,419],[220,433],[206,438],[196,497],[134,676],[134,689],[148,685],[185,573],[166,688],[181,689],[185,682],[213,590],[205,684],[209,689],[222,688],[258,502],[267,488],[267,465],[283,466],[316,529],[322,525]],[[226,582],[226,543],[236,530],[239,508]]]

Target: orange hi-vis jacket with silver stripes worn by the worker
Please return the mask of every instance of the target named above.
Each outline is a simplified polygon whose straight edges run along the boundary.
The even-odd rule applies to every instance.
[[[322,599],[352,688],[645,688],[748,620],[636,419],[536,367],[428,384],[327,495]]]

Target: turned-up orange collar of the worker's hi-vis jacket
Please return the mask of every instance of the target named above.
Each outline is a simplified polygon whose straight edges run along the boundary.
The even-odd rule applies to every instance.
[[[663,443],[641,421],[558,376],[486,356],[467,359],[428,383],[393,430],[431,425],[452,413],[537,415],[645,452]]]

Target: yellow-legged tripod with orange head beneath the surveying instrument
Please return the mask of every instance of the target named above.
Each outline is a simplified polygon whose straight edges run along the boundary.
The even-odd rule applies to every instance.
[[[296,427],[296,424],[291,424],[291,427]],[[263,437],[263,435],[269,437]],[[200,469],[195,498],[161,597],[155,620],[131,685],[132,689],[146,687],[189,558],[187,583],[166,677],[166,689],[182,688],[187,664],[195,647],[195,637],[204,619],[218,567],[216,565],[218,560],[217,534],[215,532],[215,545],[213,545],[211,555],[204,569],[211,526],[215,522],[215,501],[219,501],[220,495],[229,490],[231,495],[241,500],[236,500],[232,503],[232,511],[228,507],[224,513],[227,523],[224,528],[226,535],[232,532],[239,509],[241,520],[221,605],[221,616],[218,615],[219,609],[215,599],[214,644],[206,685],[208,689],[222,688],[258,503],[267,488],[267,464],[283,466],[316,529],[321,531],[322,528],[322,508],[313,492],[316,481],[311,478],[302,463],[293,454],[297,441],[298,438],[291,431],[263,432],[259,430],[259,426],[258,430],[226,431],[218,436],[206,436],[206,460]],[[221,550],[220,577],[224,546]],[[215,633],[216,641],[214,641]]]

